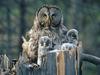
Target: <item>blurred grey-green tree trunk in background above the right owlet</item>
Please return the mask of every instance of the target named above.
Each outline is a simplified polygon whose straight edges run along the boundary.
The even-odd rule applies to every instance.
[[[71,9],[70,9],[70,16],[71,16],[71,25],[72,28],[79,30],[80,25],[82,23],[82,2],[81,0],[71,0]]]

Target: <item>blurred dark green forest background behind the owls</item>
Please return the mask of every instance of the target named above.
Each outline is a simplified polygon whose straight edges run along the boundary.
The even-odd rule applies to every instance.
[[[100,0],[0,0],[0,54],[18,58],[21,36],[44,4],[60,7],[66,27],[79,31],[84,52],[100,57]],[[100,75],[100,66],[83,63],[83,75]]]

